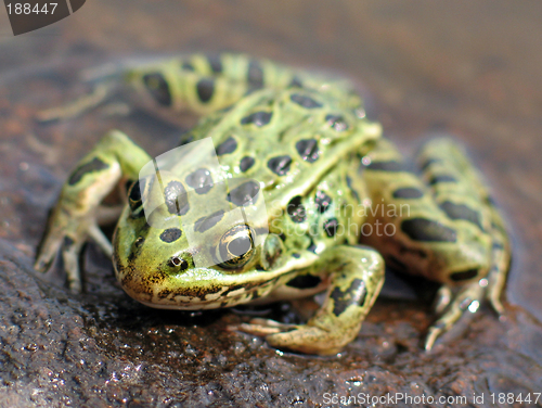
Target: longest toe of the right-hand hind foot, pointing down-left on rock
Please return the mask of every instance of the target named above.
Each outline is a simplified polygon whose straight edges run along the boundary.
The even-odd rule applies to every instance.
[[[465,285],[453,295],[447,302],[448,304],[440,317],[427,331],[425,349],[430,350],[437,339],[449,331],[467,310],[473,314],[476,313],[483,298],[483,292],[485,288],[479,282],[474,282]],[[448,293],[448,291],[440,291],[439,293]]]

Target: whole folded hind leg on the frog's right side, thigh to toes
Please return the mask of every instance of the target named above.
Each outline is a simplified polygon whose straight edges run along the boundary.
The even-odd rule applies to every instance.
[[[426,341],[431,348],[485,296],[502,310],[509,244],[478,173],[450,139],[427,143],[417,162],[425,182],[388,140],[362,158],[373,202],[367,222],[380,224],[363,242],[380,251],[392,268],[442,283],[435,307],[439,318]]]

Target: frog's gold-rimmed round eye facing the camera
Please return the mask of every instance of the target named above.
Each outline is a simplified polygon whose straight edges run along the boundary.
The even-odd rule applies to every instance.
[[[218,252],[224,269],[237,269],[253,257],[254,238],[250,227],[245,224],[233,227],[220,239]]]

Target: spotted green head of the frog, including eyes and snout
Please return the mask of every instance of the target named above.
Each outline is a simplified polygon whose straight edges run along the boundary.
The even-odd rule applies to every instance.
[[[262,295],[272,289],[283,243],[267,234],[267,219],[250,217],[250,205],[233,205],[240,190],[190,191],[186,177],[160,181],[160,188],[144,179],[132,184],[115,232],[115,270],[130,296],[158,308],[202,309],[248,302],[256,290]],[[259,189],[253,183],[237,189]],[[144,200],[162,205],[145,217]]]

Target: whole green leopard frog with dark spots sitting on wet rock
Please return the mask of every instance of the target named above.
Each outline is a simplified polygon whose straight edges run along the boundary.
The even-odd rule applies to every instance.
[[[367,117],[352,81],[245,54],[169,58],[124,68],[119,78],[159,112],[201,116],[181,136],[191,153],[158,178],[141,177],[156,162],[122,131],[108,131],[64,183],[37,270],[48,271],[60,253],[69,290],[79,293],[78,258],[92,240],[126,293],[154,308],[318,295],[302,324],[255,318],[236,329],[278,349],[323,356],[358,336],[386,265],[440,284],[427,350],[485,301],[503,313],[507,227],[453,139],[429,140],[412,166]],[[194,158],[190,145],[203,140],[212,141],[218,167]],[[99,209],[126,182],[109,241]],[[258,203],[266,217],[230,216]]]

